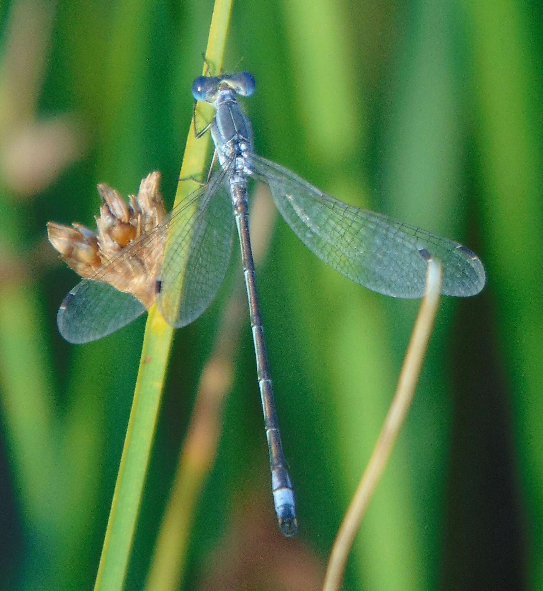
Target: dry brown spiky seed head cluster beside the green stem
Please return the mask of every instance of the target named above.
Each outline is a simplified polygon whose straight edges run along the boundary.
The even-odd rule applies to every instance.
[[[47,235],[60,258],[84,279],[98,277],[119,291],[137,297],[146,307],[155,300],[155,281],[164,254],[161,232],[149,233],[140,248],[138,241],[166,215],[159,192],[160,173],[149,174],[129,202],[106,184],[99,184],[102,197],[97,232],[74,222],[72,227],[47,223]],[[125,254],[126,253],[126,254]]]

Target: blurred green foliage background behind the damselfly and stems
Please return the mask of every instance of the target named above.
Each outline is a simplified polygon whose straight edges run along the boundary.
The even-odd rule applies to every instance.
[[[464,243],[488,274],[479,296],[441,301],[345,589],[543,589],[541,7],[234,4],[225,69],[243,57],[257,80],[257,151]],[[64,342],[55,314],[77,277],[45,223],[94,227],[96,183],[126,195],[152,170],[171,206],[212,2],[0,11],[0,587],[90,589],[145,322]],[[176,334],[126,589],[143,588],[231,278]],[[320,587],[418,307],[342,278],[279,219],[258,280],[300,534],[276,527],[247,319],[183,589]]]

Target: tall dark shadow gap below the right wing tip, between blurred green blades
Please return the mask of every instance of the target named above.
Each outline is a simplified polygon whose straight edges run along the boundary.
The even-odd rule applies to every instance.
[[[460,306],[454,338],[452,450],[447,483],[445,591],[528,589],[527,541],[510,408],[492,324],[492,289]]]

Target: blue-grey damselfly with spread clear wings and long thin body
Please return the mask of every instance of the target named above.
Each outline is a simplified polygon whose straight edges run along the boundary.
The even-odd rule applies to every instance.
[[[449,296],[473,296],[485,284],[485,271],[479,258],[465,246],[342,203],[287,168],[255,154],[250,124],[237,102],[237,95],[249,96],[254,88],[254,78],[248,72],[200,76],[194,81],[194,98],[215,108],[211,123],[198,135],[211,130],[218,170],[155,228],[143,232],[71,290],[58,311],[58,329],[72,343],[90,342],[140,316],[155,298],[171,326],[189,324],[210,305],[223,282],[235,222],[247,285],[274,504],[280,529],[293,535],[297,528],[295,498],[277,424],[257,299],[248,229],[248,178],[269,185],[277,209],[312,252],[371,290],[394,297],[423,296],[427,264],[435,257],[443,265],[441,291]],[[155,254],[161,260],[152,277],[142,264],[143,254],[151,259]],[[122,271],[112,281],[113,268]],[[138,299],[131,295],[139,294],[150,279],[154,297]],[[138,282],[139,286],[134,285]],[[131,284],[129,289],[127,284]]]

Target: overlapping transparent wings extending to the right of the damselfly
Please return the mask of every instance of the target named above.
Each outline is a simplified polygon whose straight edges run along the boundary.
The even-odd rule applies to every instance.
[[[421,297],[433,256],[443,265],[442,293],[473,296],[485,285],[479,258],[458,242],[342,203],[258,155],[251,164],[298,238],[352,281],[388,296]]]

